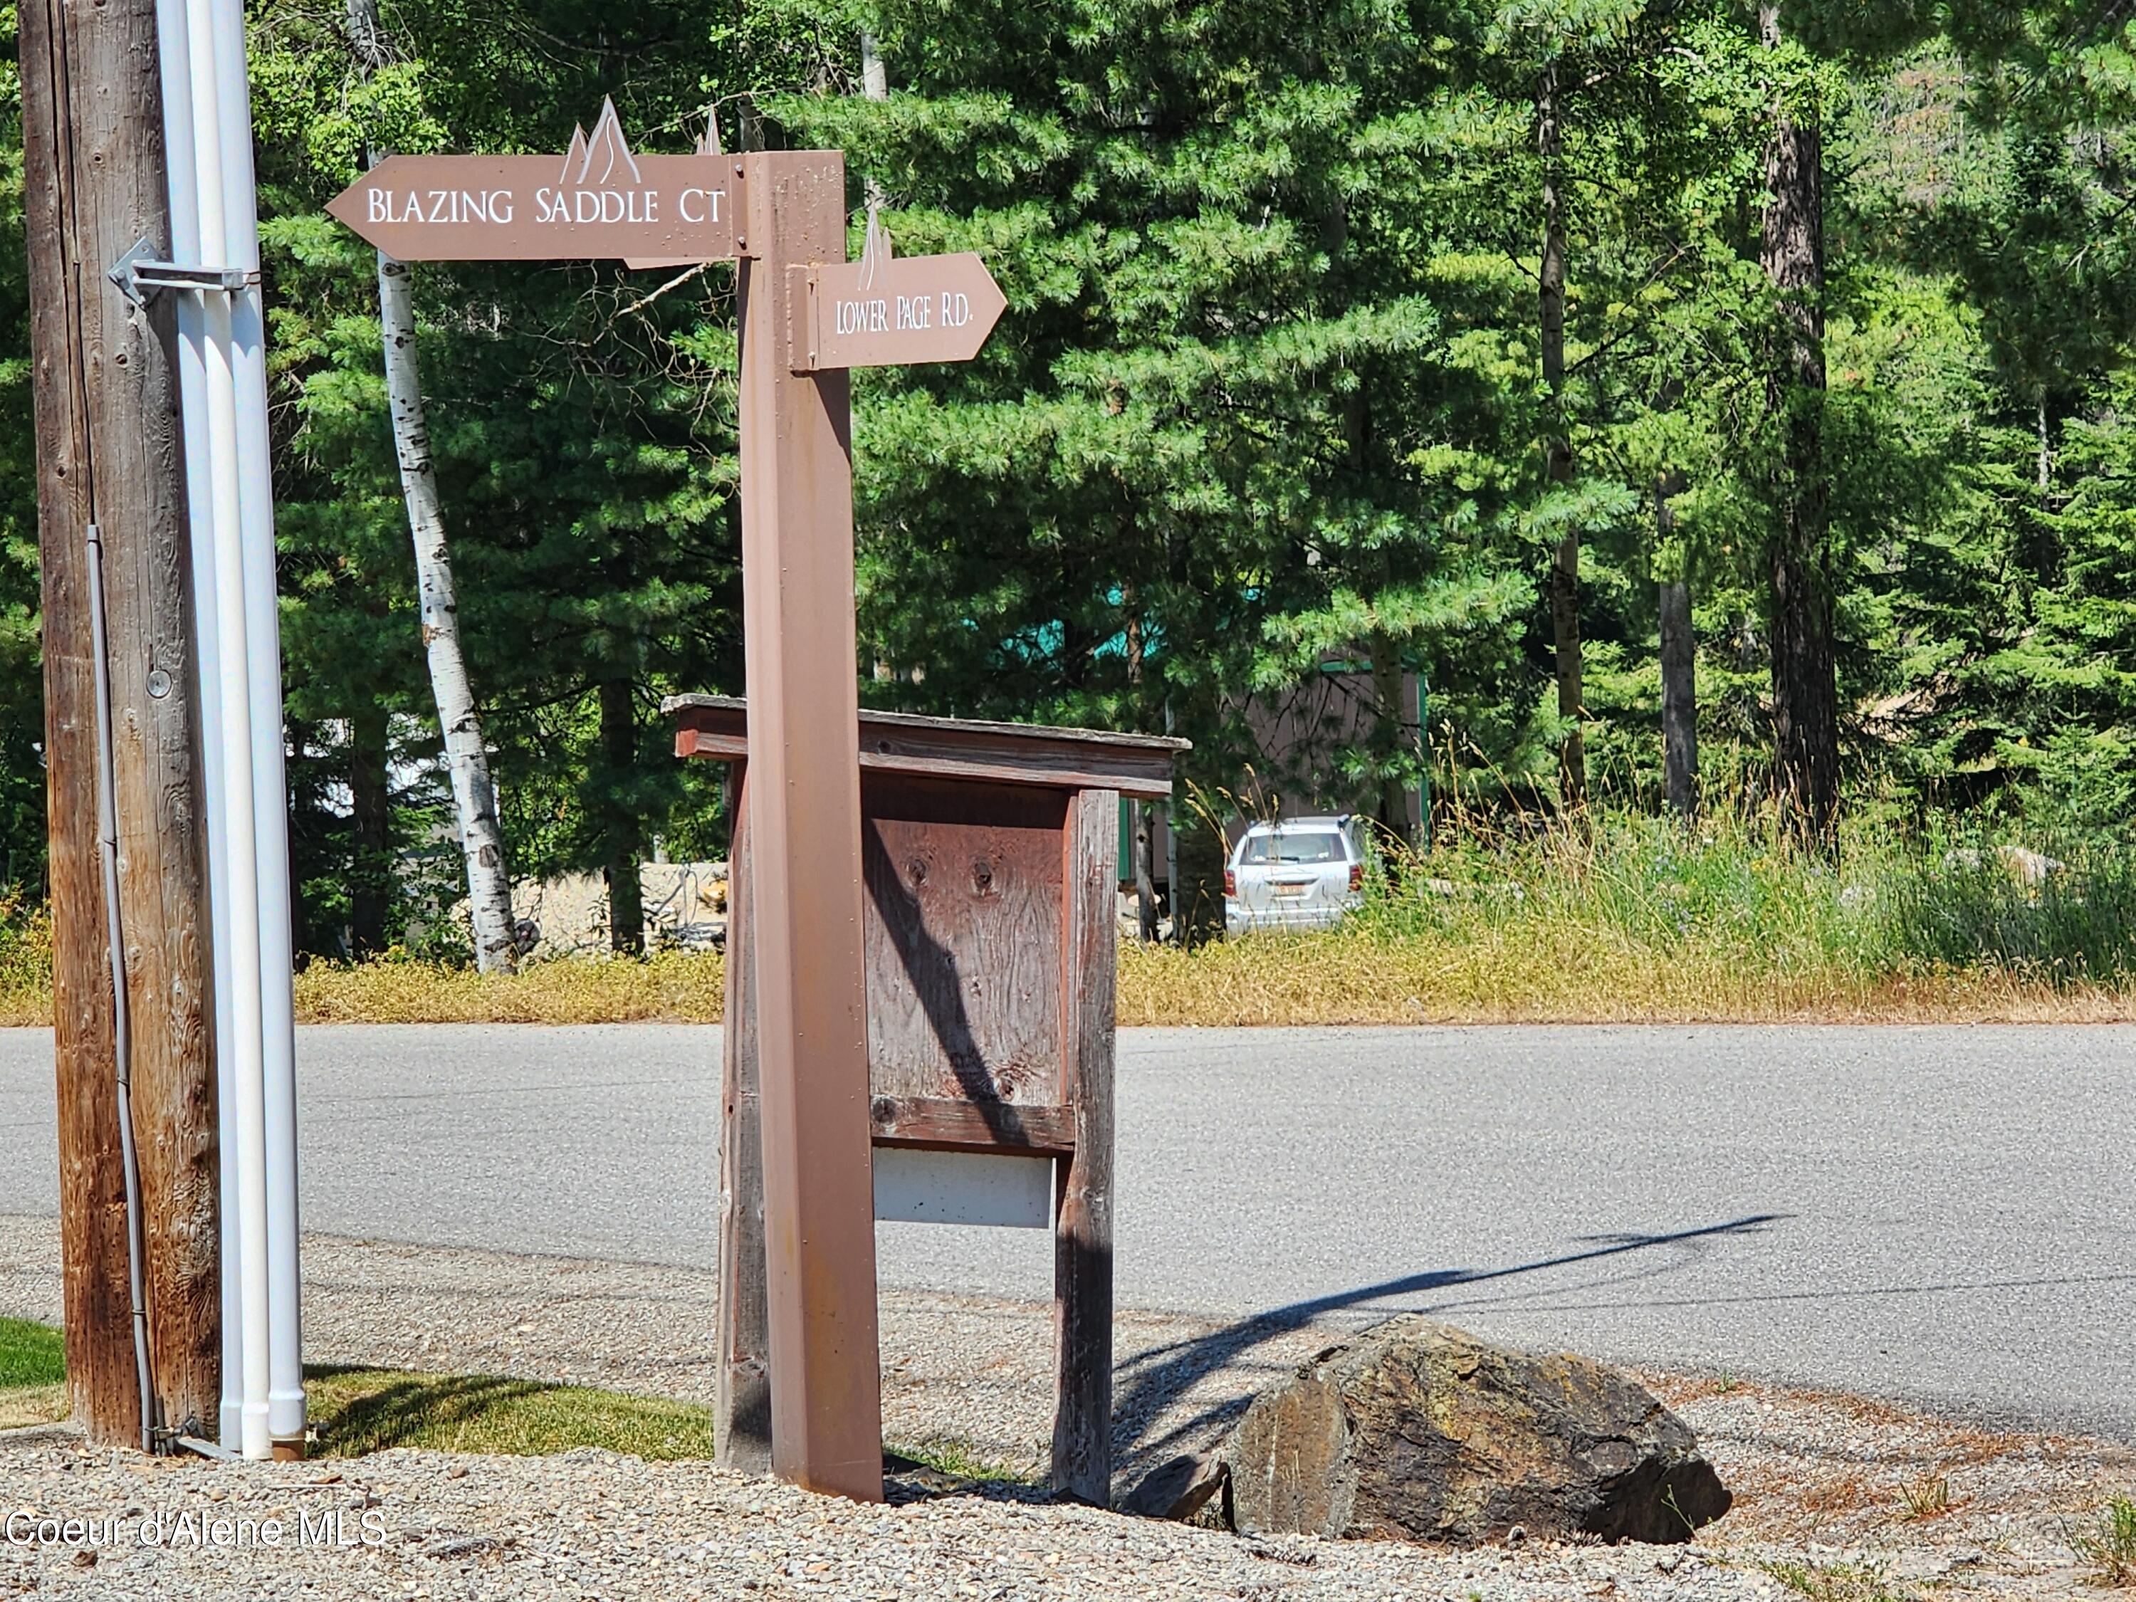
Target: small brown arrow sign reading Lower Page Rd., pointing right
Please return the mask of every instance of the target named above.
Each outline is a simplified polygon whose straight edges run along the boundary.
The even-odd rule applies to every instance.
[[[884,248],[792,273],[807,273],[795,372],[970,361],[1008,305],[987,263],[972,252],[893,258]]]

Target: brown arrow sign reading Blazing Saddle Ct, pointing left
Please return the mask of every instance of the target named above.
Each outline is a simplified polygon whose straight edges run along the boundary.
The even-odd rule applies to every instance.
[[[613,105],[557,156],[389,156],[327,207],[399,261],[722,261],[733,156],[634,156]]]

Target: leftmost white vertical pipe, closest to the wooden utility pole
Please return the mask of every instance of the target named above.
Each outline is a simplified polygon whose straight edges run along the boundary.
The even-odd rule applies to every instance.
[[[201,265],[201,197],[194,158],[192,68],[186,0],[156,0],[156,43],[162,68],[162,150],[171,188],[171,261]],[[186,446],[186,511],[192,566],[192,662],[201,720],[201,814],[207,824],[207,995],[214,1008],[218,1153],[222,1168],[222,1418],[218,1440],[237,1446],[244,1408],[237,1269],[237,1087],[231,1030],[231,884],[222,684],[216,649],[214,487],[207,459],[207,350],[199,295],[177,295],[177,397]]]

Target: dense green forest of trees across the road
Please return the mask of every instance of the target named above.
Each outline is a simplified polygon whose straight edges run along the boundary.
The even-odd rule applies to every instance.
[[[1675,812],[1811,874],[2119,861],[2119,4],[355,15],[252,6],[305,953],[468,946],[378,280],[323,205],[380,150],[560,152],[602,96],[641,150],[844,147],[854,246],[876,197],[1008,295],[976,361],[857,380],[863,701],[1181,733],[1222,810],[1292,782],[1245,696],[1341,660],[1373,716],[1314,786],[1393,818],[1425,780],[1452,846],[1579,820],[1651,857]],[[639,861],[726,833],[658,705],[741,690],[733,269],[438,265],[414,301],[511,871],[604,871],[634,946]],[[9,66],[0,878],[34,908],[26,350]]]

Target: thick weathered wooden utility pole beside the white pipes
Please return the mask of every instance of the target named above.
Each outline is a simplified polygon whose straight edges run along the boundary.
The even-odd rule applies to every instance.
[[[19,17],[66,1367],[92,1440],[139,1444],[120,1042],[96,842],[90,523],[105,549],[120,970],[160,1414],[152,1423],[211,1435],[220,1397],[216,1074],[175,329],[169,295],[143,310],[105,278],[139,239],[158,250],[171,239],[156,6],[23,0]]]

